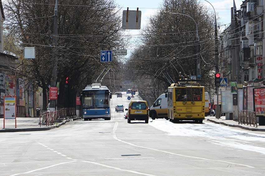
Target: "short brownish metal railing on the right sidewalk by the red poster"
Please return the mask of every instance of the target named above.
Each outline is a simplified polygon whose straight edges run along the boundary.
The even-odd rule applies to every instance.
[[[256,128],[258,127],[257,124],[257,116],[256,112],[254,111],[248,111],[248,110],[242,110],[238,112],[238,124],[249,124],[250,126],[253,125]]]

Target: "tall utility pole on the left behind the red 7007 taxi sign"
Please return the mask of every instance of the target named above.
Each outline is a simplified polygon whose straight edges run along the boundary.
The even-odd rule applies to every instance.
[[[56,46],[57,46],[57,35],[58,35],[58,0],[55,2],[55,8],[54,8],[54,23],[53,23],[53,56],[52,61],[54,61],[54,65],[52,68],[52,76],[51,76],[51,87],[56,87],[56,81],[57,81],[57,57],[56,57]],[[55,111],[56,107],[56,100],[50,100],[50,110]]]

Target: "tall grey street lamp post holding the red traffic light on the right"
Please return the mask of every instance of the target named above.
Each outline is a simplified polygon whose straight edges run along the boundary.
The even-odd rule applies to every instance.
[[[206,2],[209,2],[207,0],[205,0]],[[214,6],[209,2],[209,4],[213,7]],[[215,9],[214,9],[214,50],[215,50],[215,57],[214,57],[214,67],[215,67],[215,74],[219,73],[219,59],[218,59],[218,33],[217,33],[217,22],[216,22],[216,13],[215,13]],[[219,118],[219,88],[217,87],[217,106],[216,106],[216,113],[215,113],[215,117]]]

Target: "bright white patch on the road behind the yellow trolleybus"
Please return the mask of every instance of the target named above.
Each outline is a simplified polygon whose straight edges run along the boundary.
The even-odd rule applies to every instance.
[[[204,121],[204,124],[195,124],[154,120],[149,125],[165,131],[170,136],[205,137],[215,145],[255,151],[265,155],[265,148],[257,146],[265,143],[265,135],[262,134],[233,129],[207,121]],[[261,143],[258,144],[258,142]]]

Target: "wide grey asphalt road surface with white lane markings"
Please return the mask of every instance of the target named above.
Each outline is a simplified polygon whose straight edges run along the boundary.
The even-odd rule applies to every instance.
[[[134,98],[137,99],[137,98]],[[110,121],[0,134],[0,175],[265,175],[265,133],[204,121]]]

